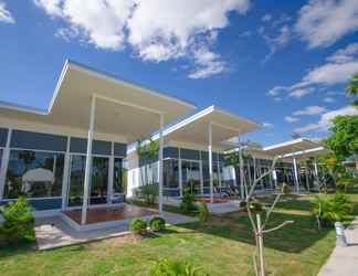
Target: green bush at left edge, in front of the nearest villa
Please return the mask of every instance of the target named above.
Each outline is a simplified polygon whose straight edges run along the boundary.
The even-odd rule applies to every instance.
[[[33,209],[25,198],[1,208],[4,222],[0,226],[0,245],[20,245],[34,242],[34,217]]]

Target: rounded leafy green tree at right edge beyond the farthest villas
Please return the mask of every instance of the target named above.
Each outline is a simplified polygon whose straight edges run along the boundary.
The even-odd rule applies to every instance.
[[[325,144],[340,160],[354,156],[358,171],[358,115],[337,116]]]

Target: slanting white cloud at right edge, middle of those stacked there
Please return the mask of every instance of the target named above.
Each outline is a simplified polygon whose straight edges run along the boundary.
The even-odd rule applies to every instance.
[[[317,86],[331,86],[347,83],[358,72],[358,43],[351,43],[338,50],[326,59],[326,63],[316,66],[296,84],[291,86],[275,86],[268,92],[286,92],[289,96],[299,98],[313,93]]]

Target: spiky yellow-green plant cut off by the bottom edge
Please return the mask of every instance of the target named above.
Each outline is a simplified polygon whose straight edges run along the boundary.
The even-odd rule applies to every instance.
[[[209,276],[209,274],[188,263],[166,258],[151,268],[149,276]]]

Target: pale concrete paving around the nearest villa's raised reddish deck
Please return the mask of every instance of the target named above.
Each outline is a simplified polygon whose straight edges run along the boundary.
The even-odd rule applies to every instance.
[[[169,224],[183,224],[198,220],[167,212],[164,212],[164,217]],[[130,234],[128,224],[108,229],[76,231],[61,216],[38,219],[35,223],[36,243],[40,251]]]

